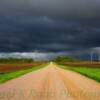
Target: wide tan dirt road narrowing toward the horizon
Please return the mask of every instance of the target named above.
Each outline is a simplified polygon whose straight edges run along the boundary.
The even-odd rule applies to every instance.
[[[100,84],[51,63],[1,84],[0,100],[100,100]]]

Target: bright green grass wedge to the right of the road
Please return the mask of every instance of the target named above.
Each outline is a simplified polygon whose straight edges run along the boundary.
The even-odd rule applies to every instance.
[[[90,68],[90,67],[67,67],[63,65],[59,65],[61,68],[65,70],[72,70],[78,72],[86,77],[89,77],[97,82],[100,82],[100,68]]]

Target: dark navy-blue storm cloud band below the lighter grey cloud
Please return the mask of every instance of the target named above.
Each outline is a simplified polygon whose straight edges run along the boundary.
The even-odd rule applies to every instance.
[[[0,17],[0,51],[73,51],[100,46],[100,20]]]

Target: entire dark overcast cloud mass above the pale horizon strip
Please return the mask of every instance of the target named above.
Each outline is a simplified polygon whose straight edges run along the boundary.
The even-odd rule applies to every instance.
[[[0,0],[0,52],[100,47],[100,0]]]

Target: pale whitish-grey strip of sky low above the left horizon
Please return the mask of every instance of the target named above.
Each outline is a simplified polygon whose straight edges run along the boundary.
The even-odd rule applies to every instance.
[[[68,55],[67,53],[39,53],[39,52],[12,52],[0,53],[0,58],[31,58],[34,60],[50,60],[56,56]]]

